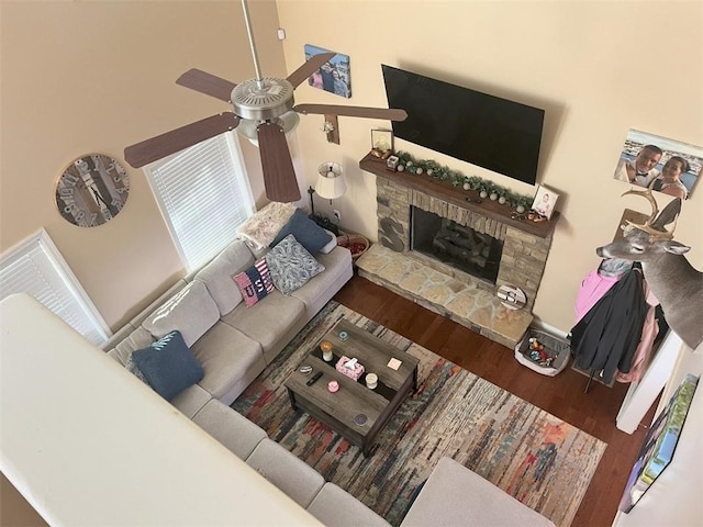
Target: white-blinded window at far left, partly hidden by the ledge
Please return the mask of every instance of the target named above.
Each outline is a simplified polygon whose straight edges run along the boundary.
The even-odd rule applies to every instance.
[[[96,346],[110,330],[66,260],[42,229],[0,257],[0,294],[25,292]]]

